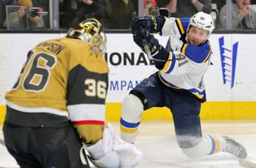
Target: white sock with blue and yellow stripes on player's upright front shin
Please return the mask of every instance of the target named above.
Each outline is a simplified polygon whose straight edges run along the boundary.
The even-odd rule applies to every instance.
[[[121,138],[133,143],[138,134],[138,127],[141,121],[143,104],[139,97],[130,94],[125,97],[121,113]]]

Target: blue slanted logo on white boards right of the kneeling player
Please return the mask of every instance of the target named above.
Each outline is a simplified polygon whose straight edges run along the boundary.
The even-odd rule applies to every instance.
[[[223,84],[230,83],[230,88],[234,87],[235,72],[236,72],[236,57],[238,42],[232,45],[232,48],[227,47],[224,43],[224,37],[219,38],[220,57],[222,67]]]

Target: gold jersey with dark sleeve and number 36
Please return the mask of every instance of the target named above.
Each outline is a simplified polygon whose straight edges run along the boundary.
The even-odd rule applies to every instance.
[[[7,108],[26,114],[65,116],[84,138],[90,125],[103,130],[107,88],[108,66],[101,52],[65,37],[44,41],[28,53],[5,98]],[[93,142],[89,139],[84,140]]]

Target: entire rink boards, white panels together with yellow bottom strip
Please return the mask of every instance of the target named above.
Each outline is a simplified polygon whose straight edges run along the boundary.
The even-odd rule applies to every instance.
[[[0,33],[0,122],[5,115],[5,92],[17,80],[29,49],[43,40],[63,36],[53,33]],[[167,37],[155,37],[163,46],[166,45]],[[134,44],[131,34],[108,33],[107,39],[105,58],[110,73],[106,117],[108,121],[118,121],[125,96],[157,70]],[[207,102],[202,105],[203,120],[256,119],[254,39],[254,34],[212,35],[212,64],[204,75]],[[166,108],[153,108],[143,113],[143,120],[171,119]]]

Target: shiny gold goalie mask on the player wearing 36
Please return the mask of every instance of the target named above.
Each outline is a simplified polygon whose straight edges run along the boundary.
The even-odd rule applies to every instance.
[[[76,28],[69,29],[67,37],[78,38],[98,49],[102,55],[106,51],[106,36],[101,23],[97,19],[87,19],[78,24]]]

